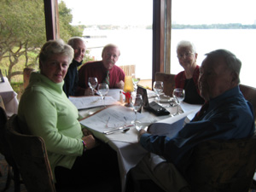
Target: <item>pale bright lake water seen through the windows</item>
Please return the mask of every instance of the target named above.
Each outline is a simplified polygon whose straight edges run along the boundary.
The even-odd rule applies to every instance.
[[[117,44],[121,51],[117,65],[136,65],[136,77],[151,79],[152,74],[152,31],[145,29],[88,31],[84,35],[101,36],[86,38],[90,55],[96,60],[102,59],[102,46]],[[172,30],[171,72],[176,74],[183,70],[177,61],[176,46],[181,40],[194,42],[198,59],[214,49],[228,49],[242,62],[241,84],[256,87],[256,30]]]

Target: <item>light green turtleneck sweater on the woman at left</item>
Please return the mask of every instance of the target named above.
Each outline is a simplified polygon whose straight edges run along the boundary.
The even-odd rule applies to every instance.
[[[53,174],[55,166],[70,169],[77,156],[83,154],[78,109],[62,91],[63,84],[64,81],[55,84],[40,73],[32,73],[18,110],[19,120],[28,131],[44,138]]]

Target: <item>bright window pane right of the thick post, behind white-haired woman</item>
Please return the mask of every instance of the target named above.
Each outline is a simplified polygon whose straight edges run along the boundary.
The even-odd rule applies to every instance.
[[[252,70],[256,50],[255,7],[255,0],[172,0],[171,72],[176,74],[183,71],[177,60],[176,46],[181,40],[189,40],[195,44],[198,65],[201,65],[204,55],[209,51],[230,50],[242,62],[241,84],[256,87],[255,72]],[[228,25],[230,23],[235,25]],[[222,29],[218,29],[220,25],[206,29],[211,24],[224,25]],[[181,25],[198,26],[191,29]],[[234,29],[234,26],[239,27]]]

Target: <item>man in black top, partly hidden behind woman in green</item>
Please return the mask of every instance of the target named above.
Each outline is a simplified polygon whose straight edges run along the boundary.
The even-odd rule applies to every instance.
[[[83,62],[86,47],[84,39],[79,37],[70,38],[67,44],[69,44],[74,50],[73,61],[68,67],[67,75],[64,79],[65,84],[63,85],[63,90],[68,97],[75,96],[79,83],[78,67]]]

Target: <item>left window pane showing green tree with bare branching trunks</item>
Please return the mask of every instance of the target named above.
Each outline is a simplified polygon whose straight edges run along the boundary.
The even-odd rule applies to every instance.
[[[44,1],[1,1],[0,69],[20,99],[23,70],[38,70],[38,51],[45,43]]]

